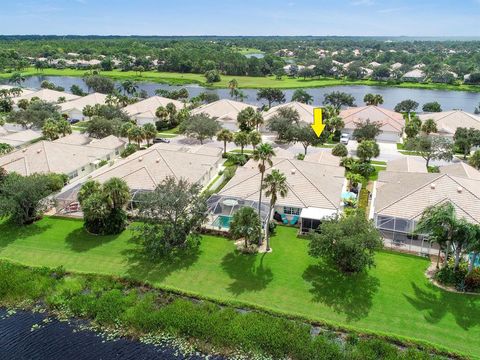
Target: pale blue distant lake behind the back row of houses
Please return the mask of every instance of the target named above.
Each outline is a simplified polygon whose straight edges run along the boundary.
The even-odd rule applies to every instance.
[[[28,77],[24,82],[25,87],[37,89],[43,80],[48,80],[56,85],[63,86],[66,91],[69,91],[73,84],[87,90],[85,83],[81,78],[68,76],[32,76]],[[187,88],[190,96],[196,96],[203,91],[209,91],[218,94],[220,98],[230,99],[228,89],[206,89],[199,85],[183,85],[172,86],[167,84],[158,84],[151,82],[139,82],[140,89],[146,90],[151,96],[155,94],[156,89],[180,89]],[[420,104],[420,108],[426,102],[438,101],[442,105],[443,110],[462,109],[467,112],[473,112],[475,107],[480,103],[480,93],[472,93],[466,91],[447,91],[447,90],[425,90],[425,89],[404,89],[394,87],[378,87],[378,86],[363,86],[363,85],[345,85],[345,86],[329,86],[323,88],[305,88],[314,97],[314,105],[321,105],[324,95],[332,91],[343,91],[352,94],[357,105],[363,104],[363,97],[367,93],[376,93],[383,96],[383,106],[388,109],[393,109],[396,104],[405,99],[413,99]],[[242,89],[248,95],[245,100],[247,103],[254,105],[261,105],[257,101],[256,89]],[[294,90],[284,90],[287,101],[290,101]]]

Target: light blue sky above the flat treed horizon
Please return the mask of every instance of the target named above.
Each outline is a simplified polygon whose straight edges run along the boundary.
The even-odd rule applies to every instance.
[[[480,0],[9,0],[0,34],[480,36]]]

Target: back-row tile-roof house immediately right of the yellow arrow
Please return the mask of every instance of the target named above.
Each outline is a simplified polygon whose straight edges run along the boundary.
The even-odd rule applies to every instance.
[[[405,127],[405,119],[402,114],[374,105],[342,110],[340,111],[340,117],[345,123],[345,128],[342,131],[349,134],[353,134],[356,123],[364,122],[367,119],[372,122],[380,122],[382,133],[377,136],[378,141],[400,141]]]

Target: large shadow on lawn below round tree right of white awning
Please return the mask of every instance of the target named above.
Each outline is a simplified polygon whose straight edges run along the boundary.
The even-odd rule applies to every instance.
[[[379,281],[368,273],[343,274],[325,264],[310,265],[303,278],[312,284],[313,301],[344,314],[347,321],[357,321],[368,315]]]

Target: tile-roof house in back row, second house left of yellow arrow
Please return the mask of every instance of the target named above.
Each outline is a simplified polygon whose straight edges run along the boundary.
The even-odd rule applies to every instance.
[[[248,107],[256,109],[255,106],[250,104],[228,99],[221,99],[193,109],[191,111],[191,115],[207,114],[210,117],[218,120],[222,127],[231,131],[237,131],[238,113]]]

